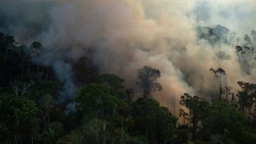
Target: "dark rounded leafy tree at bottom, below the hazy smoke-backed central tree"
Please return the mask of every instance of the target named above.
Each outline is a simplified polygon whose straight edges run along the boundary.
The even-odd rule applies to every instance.
[[[139,98],[133,104],[135,128],[150,141],[172,143],[175,137],[175,117],[166,107],[151,98]]]

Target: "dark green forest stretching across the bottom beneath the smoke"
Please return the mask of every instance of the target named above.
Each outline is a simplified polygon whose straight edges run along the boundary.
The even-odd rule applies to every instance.
[[[247,45],[254,39],[245,37]],[[178,118],[152,98],[162,89],[160,70],[138,70],[142,96],[135,96],[124,79],[80,58],[72,65],[79,88],[68,99],[74,111],[60,103],[63,84],[52,67],[34,63],[26,48],[36,54],[41,44],[19,46],[0,33],[0,143],[256,143],[256,84],[239,81],[237,94],[220,84],[211,101],[184,94]],[[224,69],[211,71],[224,77]]]

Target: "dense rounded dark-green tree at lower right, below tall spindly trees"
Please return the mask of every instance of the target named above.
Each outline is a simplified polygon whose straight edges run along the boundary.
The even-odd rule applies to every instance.
[[[211,139],[218,136],[219,139],[228,143],[228,139],[238,142],[242,135],[244,115],[226,101],[216,101],[207,108],[205,118],[203,118],[204,138]],[[220,142],[221,142],[220,141]]]

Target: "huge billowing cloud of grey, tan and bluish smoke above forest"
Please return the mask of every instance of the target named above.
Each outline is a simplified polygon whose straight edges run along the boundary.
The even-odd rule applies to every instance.
[[[2,0],[0,4],[0,30],[21,43],[43,45],[35,62],[54,67],[64,82],[62,99],[74,96],[71,65],[87,56],[89,48],[94,48],[93,62],[100,71],[119,75],[127,87],[136,88],[137,69],[144,65],[160,69],[163,91],[154,94],[167,107],[175,105],[171,99],[178,103],[184,92],[209,99],[217,89],[211,67],[226,71],[226,84],[234,92],[237,81],[256,80],[255,67],[249,75],[241,69],[234,48],[239,43],[232,33],[241,38],[255,28],[253,0]],[[206,34],[203,27],[215,27],[216,35],[200,38],[198,27]],[[220,52],[228,59],[220,59]]]

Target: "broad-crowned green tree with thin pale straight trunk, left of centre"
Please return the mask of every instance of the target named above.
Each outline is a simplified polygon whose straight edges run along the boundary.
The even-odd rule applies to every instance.
[[[75,101],[78,109],[83,109],[86,115],[102,120],[102,143],[106,143],[106,117],[115,115],[117,110],[125,109],[125,101],[112,96],[112,90],[106,84],[88,84],[79,90]]]

